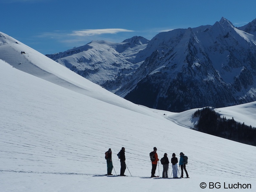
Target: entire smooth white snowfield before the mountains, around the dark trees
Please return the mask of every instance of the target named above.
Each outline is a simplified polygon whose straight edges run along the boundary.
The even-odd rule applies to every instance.
[[[1,192],[256,189],[255,147],[190,129],[197,108],[177,113],[134,104],[1,32],[0,66]],[[215,110],[256,125],[256,102]],[[149,178],[155,146],[169,160],[187,155],[190,178]],[[127,176],[103,176],[109,148],[112,174],[120,173],[121,147]],[[162,170],[160,164],[156,174]]]

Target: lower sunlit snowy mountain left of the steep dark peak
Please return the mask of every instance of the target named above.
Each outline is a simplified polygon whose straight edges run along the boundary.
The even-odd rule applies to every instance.
[[[85,46],[46,55],[79,75],[115,92],[128,82],[144,58],[139,52],[149,40],[133,37],[122,43],[92,41]]]

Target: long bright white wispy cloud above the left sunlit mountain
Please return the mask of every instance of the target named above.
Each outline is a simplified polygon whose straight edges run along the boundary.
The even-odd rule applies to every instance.
[[[83,29],[72,31],[71,36],[93,36],[101,34],[116,34],[120,32],[134,32],[133,30],[128,29]]]

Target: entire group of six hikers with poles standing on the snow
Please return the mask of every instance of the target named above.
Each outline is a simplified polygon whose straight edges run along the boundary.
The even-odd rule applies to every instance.
[[[155,170],[157,167],[157,163],[159,162],[159,159],[158,159],[158,155],[156,153],[157,148],[154,147],[153,149],[154,149],[154,151],[152,151],[150,153],[150,159],[151,159],[151,163],[152,163],[151,177],[157,177],[157,176],[155,176]],[[124,147],[122,147],[122,149],[117,154],[117,156],[120,159],[120,164],[121,164],[120,176],[125,176],[124,172],[126,169],[126,164],[125,164],[125,148]],[[185,161],[186,158],[187,158],[187,156],[185,156],[184,153],[180,152],[180,160],[178,162],[178,158],[176,157],[175,153],[172,154],[171,164],[172,164],[173,178],[179,178],[178,177],[179,171],[178,171],[177,163],[179,163],[179,167],[181,168],[181,178],[183,178],[183,170],[185,171],[187,178],[189,178],[187,169],[186,169],[186,161]],[[107,160],[107,174],[106,175],[113,175],[112,174],[113,164],[112,164],[111,148],[109,148],[109,150],[105,152],[105,159]],[[170,162],[167,157],[167,153],[165,153],[164,157],[161,159],[161,164],[163,165],[163,174],[162,174],[163,178],[168,178],[169,163]]]

